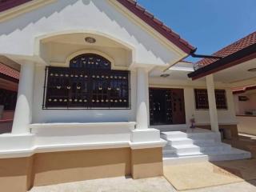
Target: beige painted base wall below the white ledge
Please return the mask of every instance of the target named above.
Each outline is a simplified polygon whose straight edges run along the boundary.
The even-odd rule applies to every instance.
[[[0,191],[25,192],[32,186],[125,175],[162,175],[162,148],[79,150],[0,159]]]

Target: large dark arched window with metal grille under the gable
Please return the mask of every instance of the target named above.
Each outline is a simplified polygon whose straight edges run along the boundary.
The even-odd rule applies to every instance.
[[[130,72],[111,70],[98,54],[81,54],[70,67],[46,67],[43,109],[130,109]]]

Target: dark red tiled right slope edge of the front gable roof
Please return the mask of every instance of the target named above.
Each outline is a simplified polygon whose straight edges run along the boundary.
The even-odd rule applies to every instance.
[[[162,34],[163,37],[174,43],[175,46],[178,46],[178,48],[186,54],[194,53],[196,50],[194,46],[191,46],[189,42],[180,38],[178,34],[174,33],[168,26],[164,25],[158,18],[154,18],[153,14],[150,14],[145,8],[138,5],[135,0],[117,0],[117,2],[122,4],[122,6],[125,6],[127,10],[130,10],[131,13],[142,19],[143,22],[146,22],[147,25],[158,31],[159,34]]]

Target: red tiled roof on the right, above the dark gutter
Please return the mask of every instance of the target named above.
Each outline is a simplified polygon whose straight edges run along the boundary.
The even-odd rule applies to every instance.
[[[214,53],[214,56],[220,56],[222,58],[226,58],[231,54],[237,53],[239,50],[243,50],[244,48],[254,45],[256,43],[256,31],[252,34],[247,35],[245,38],[241,38],[237,42],[230,44],[229,46],[224,47],[222,50],[218,50]],[[211,63],[218,61],[215,58],[204,58],[199,62],[195,63],[196,68],[201,68],[203,66],[208,66]]]

